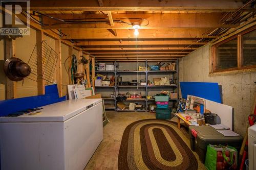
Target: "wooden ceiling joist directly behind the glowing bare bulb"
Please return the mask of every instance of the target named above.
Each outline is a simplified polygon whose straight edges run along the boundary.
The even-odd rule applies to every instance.
[[[204,33],[207,29],[140,29],[138,39],[152,38],[217,38]],[[136,38],[134,30],[119,30],[118,36],[114,36],[108,30],[88,29],[65,29],[62,30],[67,36],[62,39],[127,39]]]

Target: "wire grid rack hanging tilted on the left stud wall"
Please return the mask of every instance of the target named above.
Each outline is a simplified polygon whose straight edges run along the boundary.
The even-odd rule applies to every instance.
[[[55,67],[58,60],[58,54],[51,48],[46,41],[41,42],[41,48],[37,49],[37,44],[29,58],[29,66],[31,74],[27,77],[33,81],[37,81],[37,77],[45,80],[45,84],[53,82]],[[37,66],[42,64],[42,67]]]

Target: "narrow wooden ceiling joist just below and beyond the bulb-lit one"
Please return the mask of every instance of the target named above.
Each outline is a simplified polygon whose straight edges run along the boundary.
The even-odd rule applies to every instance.
[[[204,45],[207,42],[196,42],[196,40],[138,40],[138,45]],[[254,42],[256,44],[256,42]],[[74,42],[76,46],[93,46],[93,45],[136,45],[132,40],[112,40],[112,41],[93,41],[84,40]]]

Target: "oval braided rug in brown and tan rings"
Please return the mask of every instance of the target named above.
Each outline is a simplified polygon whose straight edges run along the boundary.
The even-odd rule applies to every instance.
[[[177,124],[144,119],[124,130],[118,169],[198,169],[198,160]]]

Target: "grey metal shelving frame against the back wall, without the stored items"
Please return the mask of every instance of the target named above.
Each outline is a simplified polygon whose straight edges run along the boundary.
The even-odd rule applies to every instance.
[[[176,84],[171,84],[171,85],[159,85],[159,86],[119,86],[118,84],[115,84],[115,86],[95,86],[95,88],[103,88],[103,89],[108,89],[108,88],[114,88],[115,91],[115,95],[117,96],[118,94],[118,90],[119,88],[120,89],[123,89],[123,88],[131,88],[131,89],[134,89],[134,88],[140,88],[140,89],[143,89],[141,91],[145,91],[145,95],[147,96],[148,95],[148,88],[176,88],[177,89],[177,93],[179,93],[179,61],[178,60],[166,60],[166,61],[173,61],[173,62],[176,62],[176,70],[147,70],[147,64],[148,64],[148,61],[146,60],[145,61],[145,67],[146,67],[146,70],[145,71],[136,71],[136,70],[116,70],[117,69],[117,62],[116,61],[113,61],[113,64],[115,65],[115,71],[95,71],[95,73],[102,73],[102,74],[114,74],[115,78],[119,75],[125,75],[125,74],[136,74],[136,73],[139,73],[140,75],[141,74],[144,74],[145,75],[145,81],[147,82],[148,80],[148,74],[163,74],[163,73],[169,73],[169,74],[177,74],[176,75],[176,79],[174,79],[176,81]],[[116,83],[116,82],[115,82]],[[178,96],[179,98],[179,96]],[[116,98],[103,98],[103,100],[108,100],[108,101],[115,101],[115,108],[107,108],[106,110],[115,110],[116,112],[131,112],[131,111],[134,111],[134,110],[118,110],[117,109],[117,100]],[[178,99],[169,99],[170,102],[176,102]],[[145,112],[146,111],[146,108],[149,104],[149,102],[153,102],[155,101],[154,99],[133,99],[133,100],[126,100],[124,102],[145,102],[145,110],[135,110],[136,112]]]

